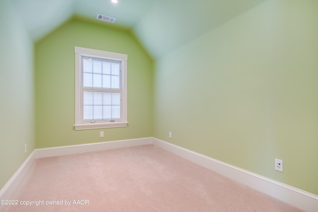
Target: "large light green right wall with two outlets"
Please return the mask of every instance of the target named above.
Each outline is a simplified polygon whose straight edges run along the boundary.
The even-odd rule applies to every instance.
[[[154,137],[318,195],[317,14],[267,0],[157,60]]]

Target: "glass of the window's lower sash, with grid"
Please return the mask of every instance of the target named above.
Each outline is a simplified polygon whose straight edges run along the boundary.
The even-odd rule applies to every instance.
[[[113,120],[121,117],[120,92],[83,92],[84,121]]]

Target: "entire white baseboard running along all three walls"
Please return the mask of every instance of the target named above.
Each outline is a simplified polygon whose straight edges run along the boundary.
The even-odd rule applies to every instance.
[[[158,147],[170,151],[178,156],[204,166],[210,170],[220,173],[230,179],[238,181],[255,190],[293,205],[306,212],[317,212],[318,196],[294,188],[292,186],[274,181],[272,179],[257,175],[255,173],[240,169],[222,161],[207,157],[197,152],[182,148],[180,146],[161,141],[156,138],[141,138],[122,141],[106,141],[98,143],[86,143],[79,145],[58,146],[51,148],[35,149],[15,172],[5,186],[0,190],[0,200],[9,200],[18,184],[26,175],[36,158],[53,157],[67,154],[107,150],[114,148],[131,147],[138,145],[155,144]],[[1,205],[0,205],[1,211]]]

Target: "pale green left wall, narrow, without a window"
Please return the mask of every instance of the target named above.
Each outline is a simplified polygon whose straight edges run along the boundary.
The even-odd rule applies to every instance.
[[[1,189],[35,147],[33,42],[7,0],[0,1],[0,65]]]

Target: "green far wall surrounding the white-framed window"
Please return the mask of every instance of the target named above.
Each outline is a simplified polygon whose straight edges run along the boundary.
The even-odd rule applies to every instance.
[[[74,130],[74,46],[128,55],[128,127]],[[153,135],[153,63],[130,32],[73,19],[36,43],[35,70],[36,148]]]

